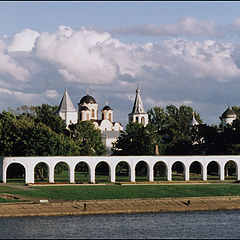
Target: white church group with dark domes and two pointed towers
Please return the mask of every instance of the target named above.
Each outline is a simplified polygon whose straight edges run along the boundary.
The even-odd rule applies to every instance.
[[[67,127],[69,124],[76,124],[78,121],[92,121],[95,128],[101,131],[101,140],[107,148],[107,154],[111,154],[113,143],[120,136],[120,131],[123,131],[122,124],[118,121],[113,121],[113,109],[108,103],[101,109],[101,117],[99,118],[98,103],[89,94],[80,99],[77,111],[67,90],[65,90],[58,108],[58,115],[65,121]],[[144,112],[138,87],[133,109],[128,114],[128,117],[129,122],[139,122],[144,126],[148,124],[148,114]]]

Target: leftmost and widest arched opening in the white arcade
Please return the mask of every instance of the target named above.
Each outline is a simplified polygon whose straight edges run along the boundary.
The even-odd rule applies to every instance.
[[[20,163],[11,163],[7,168],[7,183],[25,183],[25,168]]]

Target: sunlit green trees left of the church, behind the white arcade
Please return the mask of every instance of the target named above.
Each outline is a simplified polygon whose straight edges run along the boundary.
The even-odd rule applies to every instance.
[[[0,114],[1,156],[103,155],[100,131],[90,121],[72,124],[56,115],[58,107],[22,106]]]

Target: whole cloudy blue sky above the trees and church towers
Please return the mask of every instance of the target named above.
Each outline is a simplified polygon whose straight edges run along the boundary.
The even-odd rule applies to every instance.
[[[88,89],[126,126],[139,84],[146,112],[187,105],[219,124],[240,106],[239,40],[237,1],[2,1],[0,111],[65,89],[77,109]]]

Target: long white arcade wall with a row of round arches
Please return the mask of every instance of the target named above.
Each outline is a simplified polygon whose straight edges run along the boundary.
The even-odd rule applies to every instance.
[[[198,162],[201,166],[201,180],[207,180],[207,167],[209,163],[218,164],[219,179],[225,179],[225,165],[233,161],[236,165],[236,179],[240,180],[240,156],[54,156],[54,157],[1,157],[0,158],[0,180],[7,181],[7,169],[12,163],[19,163],[25,169],[25,183],[34,183],[34,169],[38,163],[45,163],[48,166],[49,183],[54,183],[54,168],[59,162],[64,162],[68,166],[69,182],[75,183],[75,168],[78,163],[84,162],[89,169],[89,180],[95,183],[95,170],[100,162],[105,162],[109,167],[110,181],[116,181],[116,167],[120,162],[126,162],[129,168],[129,178],[131,182],[136,181],[136,165],[144,161],[147,165],[148,181],[154,181],[154,166],[162,162],[166,169],[166,180],[172,181],[172,166],[176,162],[181,162],[184,169],[184,180],[190,179],[190,166]]]

